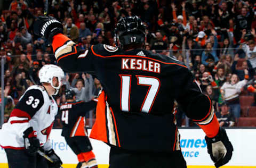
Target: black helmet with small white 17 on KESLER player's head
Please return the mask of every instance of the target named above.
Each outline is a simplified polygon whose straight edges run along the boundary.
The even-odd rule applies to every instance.
[[[128,16],[119,19],[116,24],[115,36],[117,46],[143,44],[146,42],[146,26],[138,16]]]

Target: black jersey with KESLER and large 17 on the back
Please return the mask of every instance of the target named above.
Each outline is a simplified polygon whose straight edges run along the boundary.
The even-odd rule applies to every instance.
[[[80,51],[67,37],[54,38],[63,70],[91,73],[102,84],[91,138],[130,150],[180,149],[174,99],[186,108],[191,97],[201,94],[185,65],[144,49],[99,44]]]

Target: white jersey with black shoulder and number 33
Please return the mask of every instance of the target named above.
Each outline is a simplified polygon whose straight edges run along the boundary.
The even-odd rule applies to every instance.
[[[1,147],[24,149],[23,132],[33,127],[37,131],[40,146],[50,150],[49,135],[57,112],[57,103],[44,87],[29,87],[11,112],[8,122],[0,130]]]

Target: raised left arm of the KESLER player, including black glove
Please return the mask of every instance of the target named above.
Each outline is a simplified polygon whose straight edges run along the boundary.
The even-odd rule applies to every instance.
[[[93,72],[91,49],[83,51],[67,36],[63,35],[62,24],[55,18],[39,16],[34,24],[34,32],[52,43],[55,58],[67,72]]]

